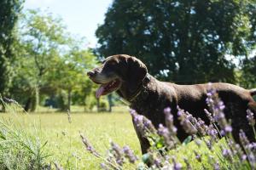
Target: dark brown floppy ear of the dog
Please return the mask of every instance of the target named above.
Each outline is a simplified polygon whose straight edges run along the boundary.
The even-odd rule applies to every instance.
[[[143,62],[135,57],[127,59],[127,85],[131,93],[135,92],[138,86],[143,83],[143,78],[146,77],[148,69]]]

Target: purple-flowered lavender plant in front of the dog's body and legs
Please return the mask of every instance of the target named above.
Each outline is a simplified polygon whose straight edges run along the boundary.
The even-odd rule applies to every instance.
[[[206,99],[208,110],[206,115],[210,124],[200,118],[195,118],[189,112],[177,107],[178,120],[184,131],[192,139],[191,143],[183,145],[177,139],[177,127],[173,123],[172,109],[167,107],[163,114],[166,116],[165,126],[160,124],[154,127],[146,117],[131,110],[132,121],[139,133],[147,138],[151,144],[147,154],[139,158],[128,147],[119,147],[111,142],[107,157],[100,155],[81,135],[86,149],[94,156],[102,159],[102,169],[127,169],[127,165],[137,169],[195,169],[195,161],[203,169],[255,169],[256,143],[251,143],[246,134],[239,133],[241,144],[236,144],[232,137],[232,127],[224,116],[225,105],[218,98],[218,92],[211,88],[207,91]],[[247,111],[248,124],[253,128],[255,135],[255,119],[252,111]],[[255,136],[256,137],[256,136]],[[184,149],[185,148],[185,149]],[[182,158],[176,153],[182,150],[191,150],[192,154]],[[128,166],[129,167],[129,166]]]

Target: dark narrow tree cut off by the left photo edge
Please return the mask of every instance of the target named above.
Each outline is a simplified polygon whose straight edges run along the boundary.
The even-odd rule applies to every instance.
[[[11,63],[15,59],[15,24],[23,0],[0,1],[0,94],[9,95],[12,82]]]

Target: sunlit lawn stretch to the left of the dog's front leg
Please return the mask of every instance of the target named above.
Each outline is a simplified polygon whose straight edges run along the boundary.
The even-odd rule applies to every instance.
[[[128,108],[114,108],[113,113],[75,113],[69,123],[67,113],[2,114],[1,118],[15,122],[26,132],[38,135],[42,143],[48,141],[49,161],[56,161],[65,169],[98,169],[100,160],[84,150],[79,131],[84,133],[96,150],[105,154],[109,141],[128,144],[137,155],[140,147]]]

